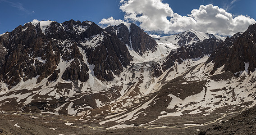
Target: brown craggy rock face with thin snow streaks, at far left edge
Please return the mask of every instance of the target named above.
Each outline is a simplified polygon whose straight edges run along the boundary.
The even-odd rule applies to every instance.
[[[17,85],[22,78],[26,81],[37,75],[40,82],[51,75],[59,63],[58,53],[53,54],[55,46],[43,36],[38,36],[32,23],[19,26],[0,38],[0,44],[8,50],[0,73],[10,87]]]

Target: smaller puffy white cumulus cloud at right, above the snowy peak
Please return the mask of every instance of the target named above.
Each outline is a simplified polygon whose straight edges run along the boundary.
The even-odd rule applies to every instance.
[[[254,19],[244,15],[233,18],[231,13],[212,4],[201,5],[199,9],[193,9],[188,16],[197,21],[194,29],[219,35],[233,35],[245,31],[250,24],[256,23]]]

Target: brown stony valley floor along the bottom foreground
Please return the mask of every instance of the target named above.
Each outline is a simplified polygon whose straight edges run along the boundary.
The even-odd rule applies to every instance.
[[[221,110],[225,108],[208,116],[164,117],[147,125],[126,128],[101,126],[81,116],[7,111],[0,112],[0,135],[204,135],[207,129],[214,133],[215,127],[239,116],[239,113],[224,114]]]

